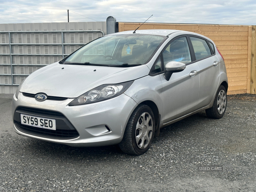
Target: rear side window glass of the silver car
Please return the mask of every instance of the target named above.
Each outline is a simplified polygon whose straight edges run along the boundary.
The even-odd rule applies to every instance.
[[[212,55],[211,50],[204,39],[195,38],[195,37],[190,37],[190,39],[195,51],[196,60]]]

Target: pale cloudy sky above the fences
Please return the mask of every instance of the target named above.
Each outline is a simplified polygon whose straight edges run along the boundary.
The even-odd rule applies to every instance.
[[[0,23],[105,21],[256,25],[256,0],[0,0]]]

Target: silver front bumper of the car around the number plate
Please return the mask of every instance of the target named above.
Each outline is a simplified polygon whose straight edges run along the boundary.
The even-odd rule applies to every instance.
[[[18,99],[14,95],[12,100],[14,131],[26,137],[70,146],[113,145],[121,142],[128,119],[137,107],[137,103],[125,94],[106,101],[80,106],[69,106],[71,101],[73,99],[39,102],[35,98],[23,96],[22,93],[19,93]],[[68,133],[67,137],[58,137],[59,133],[54,131],[50,131],[49,134],[49,131],[43,128],[34,129],[32,126],[22,126],[19,122],[20,113],[58,119],[56,131],[62,130],[61,134],[63,132],[66,134],[69,130],[72,134],[70,136]]]

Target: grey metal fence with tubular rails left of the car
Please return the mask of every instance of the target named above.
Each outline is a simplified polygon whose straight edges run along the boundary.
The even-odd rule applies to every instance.
[[[0,93],[105,33],[106,22],[0,24]]]

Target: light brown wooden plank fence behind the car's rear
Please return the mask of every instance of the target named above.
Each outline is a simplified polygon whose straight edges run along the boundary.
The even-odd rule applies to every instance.
[[[141,23],[118,23],[119,32],[135,30]],[[229,88],[227,94],[256,94],[255,26],[144,23],[140,29],[177,29],[212,39],[224,57]]]

